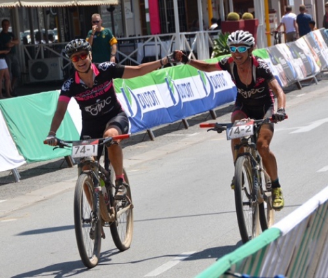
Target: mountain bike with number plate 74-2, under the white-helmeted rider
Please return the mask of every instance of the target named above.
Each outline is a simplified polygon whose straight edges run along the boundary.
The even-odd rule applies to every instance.
[[[200,124],[202,128],[210,128],[209,131],[226,131],[227,140],[240,138],[240,143],[234,147],[234,192],[235,210],[243,243],[257,237],[260,227],[262,231],[267,230],[274,222],[271,178],[262,165],[262,158],[256,147],[261,125],[269,122],[272,122],[271,118],[238,120],[233,124]]]

